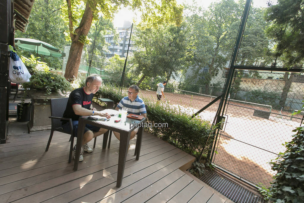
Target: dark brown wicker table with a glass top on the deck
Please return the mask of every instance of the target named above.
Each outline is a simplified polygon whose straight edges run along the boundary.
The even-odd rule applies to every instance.
[[[76,153],[75,153],[75,161],[74,161],[74,171],[78,169],[78,163],[79,163],[79,156],[80,156],[80,149],[81,149],[81,140],[82,136],[84,134],[85,130],[85,124],[91,124],[98,126],[100,128],[109,129],[112,131],[116,131],[120,133],[120,142],[119,142],[119,158],[118,158],[118,171],[117,171],[117,183],[116,187],[120,187],[123,181],[123,172],[125,170],[125,163],[126,163],[126,157],[129,147],[129,141],[130,141],[130,135],[131,132],[136,128],[136,126],[133,126],[133,128],[130,128],[130,124],[140,124],[143,123],[143,121],[146,120],[146,118],[139,120],[126,118],[126,122],[119,122],[114,123],[114,120],[119,120],[120,118],[116,116],[112,116],[109,121],[93,121],[87,119],[87,116],[81,116],[79,118],[78,123],[78,134],[77,134],[77,144],[76,144]],[[135,153],[136,160],[139,160],[140,156],[140,148],[141,148],[141,141],[142,141],[142,133],[143,133],[143,127],[140,127],[138,130],[137,140],[136,140],[136,147],[135,147]],[[109,131],[107,131],[103,135],[103,142],[102,142],[102,149],[106,148],[107,141],[108,141]]]

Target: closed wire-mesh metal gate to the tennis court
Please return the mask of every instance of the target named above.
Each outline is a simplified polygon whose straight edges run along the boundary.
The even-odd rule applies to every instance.
[[[250,184],[269,186],[269,162],[292,139],[303,121],[304,83],[297,75],[236,70],[225,107],[226,122],[211,160],[220,169]]]

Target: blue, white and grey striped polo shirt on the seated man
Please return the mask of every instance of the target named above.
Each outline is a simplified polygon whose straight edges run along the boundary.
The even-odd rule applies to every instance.
[[[131,102],[128,96],[123,97],[122,100],[120,100],[119,104],[117,105],[119,109],[126,107],[128,108],[128,114],[146,114],[146,107],[143,100],[137,95],[136,99]]]

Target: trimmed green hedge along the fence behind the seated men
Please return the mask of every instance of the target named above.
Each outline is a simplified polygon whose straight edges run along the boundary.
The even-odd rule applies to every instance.
[[[118,88],[105,85],[99,89],[94,97],[95,100],[100,97],[109,98],[114,101],[114,105],[116,106],[126,95],[126,91],[123,91],[121,94]],[[152,127],[145,130],[193,156],[198,156],[200,150],[206,145],[211,131],[209,121],[196,118],[190,120],[189,115],[184,114],[180,107],[161,103],[156,104],[149,100],[145,100],[144,102],[148,106],[147,123],[151,123],[152,126],[155,123],[168,123],[168,128]],[[209,141],[212,142],[213,139],[211,138]]]

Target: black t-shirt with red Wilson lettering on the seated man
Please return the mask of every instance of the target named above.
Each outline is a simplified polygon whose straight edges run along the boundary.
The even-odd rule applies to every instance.
[[[67,107],[65,108],[63,117],[64,118],[71,118],[72,120],[78,121],[79,115],[76,115],[73,110],[73,105],[81,105],[81,107],[84,107],[86,109],[90,109],[92,104],[94,94],[87,94],[85,93],[85,90],[83,87],[74,89],[67,101]],[[63,121],[63,123],[66,123],[67,121]]]

